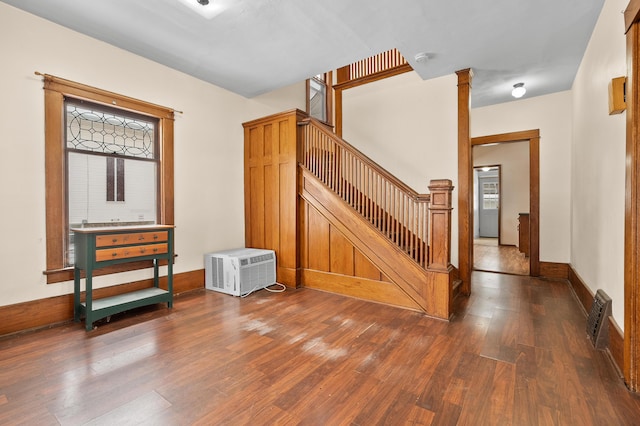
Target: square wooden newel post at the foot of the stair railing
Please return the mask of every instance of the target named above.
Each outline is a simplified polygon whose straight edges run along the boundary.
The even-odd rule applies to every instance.
[[[448,271],[451,266],[451,193],[449,179],[432,180],[429,184],[429,257],[427,268]]]

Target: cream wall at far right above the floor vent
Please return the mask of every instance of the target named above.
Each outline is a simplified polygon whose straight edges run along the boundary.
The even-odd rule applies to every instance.
[[[626,113],[609,115],[608,83],[625,76],[627,0],[607,0],[573,84],[571,265],[613,299],[624,326]]]

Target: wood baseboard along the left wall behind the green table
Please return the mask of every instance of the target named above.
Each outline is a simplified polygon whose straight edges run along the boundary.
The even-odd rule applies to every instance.
[[[153,280],[148,279],[103,287],[95,289],[93,296],[96,299],[113,296],[150,287],[151,285],[153,285]],[[166,289],[166,277],[160,278],[160,286]],[[174,295],[199,288],[204,288],[204,269],[174,274]],[[3,319],[0,322],[0,336],[72,321],[73,294],[0,306],[0,318]]]

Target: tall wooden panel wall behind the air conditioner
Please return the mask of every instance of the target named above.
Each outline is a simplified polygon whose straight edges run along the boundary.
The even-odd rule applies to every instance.
[[[276,279],[299,282],[298,110],[244,123],[245,245],[275,250]]]

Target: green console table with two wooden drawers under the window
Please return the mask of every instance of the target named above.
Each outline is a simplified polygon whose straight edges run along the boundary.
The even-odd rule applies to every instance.
[[[113,314],[166,303],[173,306],[173,225],[73,228],[74,321],[84,316],[87,331],[94,321]],[[159,287],[159,261],[167,260],[167,290]],[[153,287],[116,296],[93,298],[93,271],[106,266],[141,260],[153,261]],[[80,301],[80,273],[85,271],[85,301]]]

